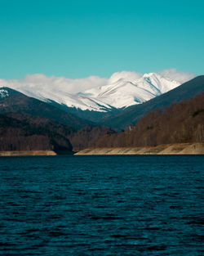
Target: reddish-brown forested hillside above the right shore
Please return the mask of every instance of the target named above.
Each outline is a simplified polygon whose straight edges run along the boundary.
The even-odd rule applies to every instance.
[[[204,141],[204,93],[189,101],[150,111],[124,132],[107,134],[92,147],[157,146]]]

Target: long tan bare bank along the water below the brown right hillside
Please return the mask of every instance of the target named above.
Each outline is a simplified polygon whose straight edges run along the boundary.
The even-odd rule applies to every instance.
[[[175,143],[158,146],[87,148],[74,155],[204,155],[204,143]]]

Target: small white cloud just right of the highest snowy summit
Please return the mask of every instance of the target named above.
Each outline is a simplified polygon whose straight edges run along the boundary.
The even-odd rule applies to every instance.
[[[185,83],[197,76],[196,74],[193,74],[193,73],[179,71],[179,70],[175,70],[175,69],[162,70],[157,73],[161,74],[162,77],[164,77],[166,79],[172,79],[172,80],[175,80],[180,83]]]

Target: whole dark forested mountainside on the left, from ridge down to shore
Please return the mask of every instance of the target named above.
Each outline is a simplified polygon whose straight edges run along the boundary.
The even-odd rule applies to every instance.
[[[110,131],[55,106],[4,88],[0,97],[0,150],[81,150]]]

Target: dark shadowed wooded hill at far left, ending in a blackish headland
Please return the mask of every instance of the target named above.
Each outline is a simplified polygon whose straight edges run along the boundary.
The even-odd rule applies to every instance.
[[[62,150],[72,151],[64,127],[49,119],[29,115],[0,115],[0,151]],[[66,129],[67,133],[71,130]]]

